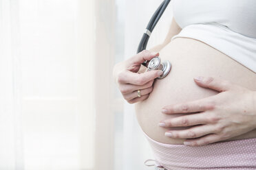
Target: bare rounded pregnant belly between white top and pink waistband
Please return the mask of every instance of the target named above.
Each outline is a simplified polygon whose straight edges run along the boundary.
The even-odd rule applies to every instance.
[[[135,107],[142,130],[160,143],[182,144],[184,142],[184,140],[164,136],[167,129],[158,126],[163,119],[181,116],[181,114],[162,114],[163,106],[217,94],[214,90],[197,86],[193,77],[200,75],[220,77],[250,90],[256,90],[256,74],[253,71],[198,40],[175,38],[160,51],[160,58],[171,62],[171,72],[164,79],[156,80],[149,98],[136,104]],[[181,128],[188,127],[175,127],[178,130]],[[253,137],[256,137],[256,130],[232,138],[230,141]]]

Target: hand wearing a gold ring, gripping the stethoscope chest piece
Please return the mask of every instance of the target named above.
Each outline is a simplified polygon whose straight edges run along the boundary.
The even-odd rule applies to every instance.
[[[153,90],[153,81],[162,75],[162,71],[146,71],[138,73],[142,62],[159,56],[159,53],[144,50],[136,56],[120,62],[114,66],[113,76],[122,96],[129,104],[143,101]],[[145,68],[144,68],[145,70]],[[140,90],[140,97],[138,97]]]

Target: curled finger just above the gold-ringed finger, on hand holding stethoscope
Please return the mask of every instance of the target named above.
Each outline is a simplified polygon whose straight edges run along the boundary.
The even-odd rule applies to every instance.
[[[119,89],[120,92],[122,93],[122,95],[128,94],[128,93],[132,93],[135,90],[138,89],[145,89],[145,88],[149,88],[153,85],[153,80],[147,82],[146,84],[142,85],[142,86],[138,86],[138,85],[134,85],[134,84],[120,84]]]

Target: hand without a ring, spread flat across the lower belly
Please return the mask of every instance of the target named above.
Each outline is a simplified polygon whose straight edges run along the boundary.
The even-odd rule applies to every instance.
[[[193,113],[161,121],[161,127],[190,127],[169,130],[171,138],[185,138],[184,145],[200,146],[224,141],[256,128],[256,92],[213,77],[194,79],[198,86],[217,90],[217,95],[183,104],[164,106],[164,114]]]

